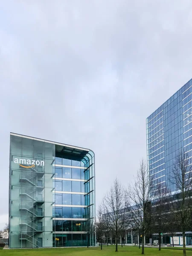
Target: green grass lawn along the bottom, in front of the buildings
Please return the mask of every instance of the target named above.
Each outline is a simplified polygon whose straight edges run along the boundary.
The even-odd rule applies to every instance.
[[[141,255],[141,249],[138,247],[124,246],[118,247],[119,252],[115,252],[114,246],[104,246],[103,250],[97,248],[50,248],[50,249],[23,249],[23,250],[0,250],[0,256],[137,256]],[[159,255],[159,256],[181,256],[182,250],[161,250],[157,248],[145,248],[145,255]],[[186,255],[192,256],[192,251],[187,250]]]

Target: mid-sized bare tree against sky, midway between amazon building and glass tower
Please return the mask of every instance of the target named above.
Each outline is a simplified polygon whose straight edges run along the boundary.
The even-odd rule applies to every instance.
[[[108,228],[114,233],[116,239],[116,252],[118,251],[117,239],[125,226],[125,208],[125,190],[116,179],[110,191],[103,199],[104,216],[108,218]]]

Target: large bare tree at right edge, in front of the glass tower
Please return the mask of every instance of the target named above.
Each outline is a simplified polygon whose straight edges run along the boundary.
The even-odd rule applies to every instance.
[[[186,256],[185,232],[192,219],[192,160],[184,150],[176,157],[169,181],[175,190],[170,194],[170,211],[182,231],[183,256]]]

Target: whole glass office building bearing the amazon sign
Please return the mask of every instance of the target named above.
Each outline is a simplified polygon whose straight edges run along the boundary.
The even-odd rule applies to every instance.
[[[10,134],[9,247],[95,246],[93,151]]]

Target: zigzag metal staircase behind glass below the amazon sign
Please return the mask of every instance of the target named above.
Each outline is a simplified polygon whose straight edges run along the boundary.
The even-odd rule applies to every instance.
[[[23,168],[20,172],[19,239],[23,241],[22,247],[42,247],[40,233],[44,232],[44,175],[44,169],[41,171],[38,168]]]

